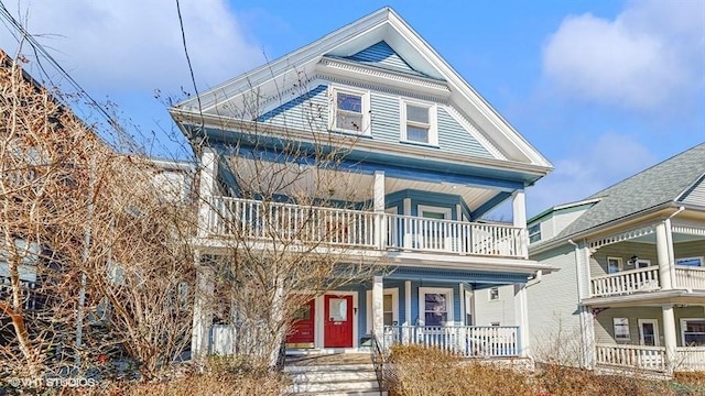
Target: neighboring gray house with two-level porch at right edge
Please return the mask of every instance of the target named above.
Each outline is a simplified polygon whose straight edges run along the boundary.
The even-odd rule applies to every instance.
[[[538,359],[705,370],[704,179],[702,143],[529,220],[530,257],[560,270],[528,284]]]

